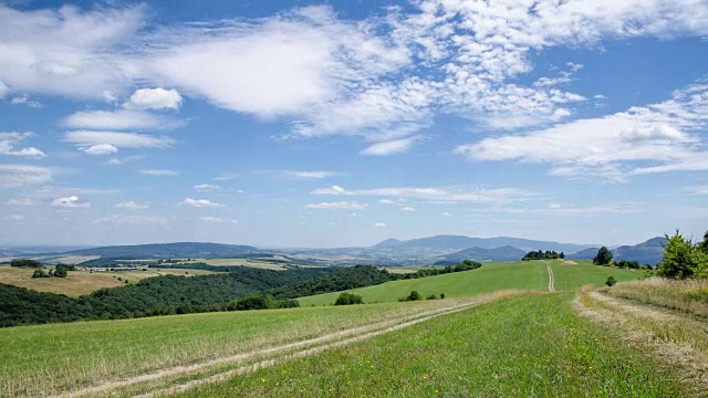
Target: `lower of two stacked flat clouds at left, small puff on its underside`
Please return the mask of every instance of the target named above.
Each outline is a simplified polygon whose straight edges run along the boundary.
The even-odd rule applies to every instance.
[[[115,154],[119,148],[159,149],[174,143],[169,137],[156,137],[147,134],[92,130],[69,132],[64,134],[64,140],[91,155]]]

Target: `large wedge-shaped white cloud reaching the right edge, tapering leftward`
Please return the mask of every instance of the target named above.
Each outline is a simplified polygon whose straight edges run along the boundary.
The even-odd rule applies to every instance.
[[[455,151],[473,160],[550,164],[554,176],[622,181],[632,175],[708,170],[708,151],[698,145],[697,133],[707,125],[708,85],[696,85],[663,103],[486,138]]]

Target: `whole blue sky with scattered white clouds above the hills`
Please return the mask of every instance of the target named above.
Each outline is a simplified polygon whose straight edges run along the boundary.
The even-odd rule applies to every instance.
[[[706,0],[25,0],[0,21],[0,244],[708,229]]]

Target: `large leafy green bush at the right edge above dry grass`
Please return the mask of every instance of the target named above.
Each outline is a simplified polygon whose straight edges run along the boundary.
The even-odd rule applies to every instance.
[[[664,255],[656,270],[657,275],[673,279],[708,277],[708,254],[701,249],[701,243],[694,244],[684,238],[678,230],[664,248]]]

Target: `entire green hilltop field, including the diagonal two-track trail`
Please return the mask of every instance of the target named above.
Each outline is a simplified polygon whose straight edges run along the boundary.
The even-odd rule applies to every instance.
[[[701,396],[680,363],[625,341],[650,342],[675,318],[638,334],[657,322],[627,331],[618,320],[641,311],[625,305],[603,323],[577,304],[575,286],[641,273],[549,263],[558,289],[571,291],[548,293],[543,261],[497,263],[377,286],[382,301],[409,293],[404,282],[421,294],[444,286],[446,300],[10,327],[0,334],[0,396]],[[708,370],[705,322],[679,324],[702,338],[687,342],[698,349],[691,366]]]

